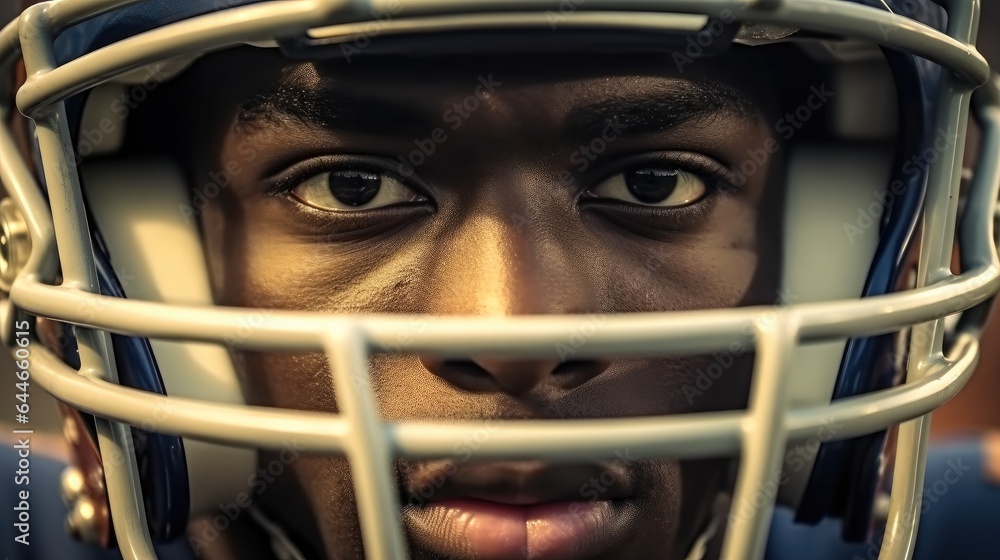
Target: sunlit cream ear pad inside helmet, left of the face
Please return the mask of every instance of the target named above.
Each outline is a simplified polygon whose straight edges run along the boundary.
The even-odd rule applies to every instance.
[[[81,180],[92,229],[107,254],[102,287],[107,283],[114,292],[117,285],[121,295],[132,299],[213,304],[198,226],[190,212],[182,211],[190,209],[188,187],[173,162],[89,162],[81,169]],[[137,388],[169,396],[243,402],[232,360],[222,345],[116,337],[115,351],[123,383],[128,379]],[[165,408],[142,426],[144,432],[156,431],[170,413]],[[184,439],[177,453],[186,464],[189,495],[172,500],[177,505],[170,507],[190,502],[193,514],[232,502],[247,490],[256,468],[252,449]],[[149,453],[139,461],[147,463],[150,472],[176,473],[179,467],[165,466],[166,459]]]

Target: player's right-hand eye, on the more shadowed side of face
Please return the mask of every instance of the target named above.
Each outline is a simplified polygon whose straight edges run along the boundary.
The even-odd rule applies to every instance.
[[[677,208],[693,204],[707,193],[705,182],[693,173],[681,169],[649,168],[618,173],[588,190],[586,196]]]

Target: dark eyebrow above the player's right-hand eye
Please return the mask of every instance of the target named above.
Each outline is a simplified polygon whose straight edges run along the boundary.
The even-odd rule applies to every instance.
[[[751,124],[759,118],[754,104],[736,89],[716,82],[684,82],[664,86],[654,95],[622,96],[577,107],[566,118],[566,132],[593,135],[615,123],[622,128],[622,137],[634,137],[726,115]]]

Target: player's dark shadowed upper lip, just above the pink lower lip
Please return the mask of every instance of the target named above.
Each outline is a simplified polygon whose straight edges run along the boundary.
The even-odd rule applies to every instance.
[[[620,463],[550,465],[538,461],[435,461],[402,481],[403,503],[475,499],[508,505],[618,500],[632,496],[632,477]]]

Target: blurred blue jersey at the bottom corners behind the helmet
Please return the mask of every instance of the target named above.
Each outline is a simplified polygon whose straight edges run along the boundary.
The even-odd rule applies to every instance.
[[[65,507],[59,495],[63,465],[32,456],[29,545],[7,532],[0,552],[9,560],[117,560],[117,551],[81,545],[63,530]],[[17,454],[0,447],[0,472],[17,470]],[[5,477],[5,487],[13,478]],[[23,486],[9,487],[20,490]],[[16,493],[4,492],[0,523],[11,528],[18,512]],[[792,523],[792,512],[779,508],[771,525],[766,560],[875,560],[881,534],[865,543],[840,540],[840,525],[826,520],[816,526]],[[184,539],[157,547],[161,560],[193,560]],[[979,440],[965,440],[932,448],[927,459],[920,531],[914,560],[1000,559],[1000,485],[988,480]]]

